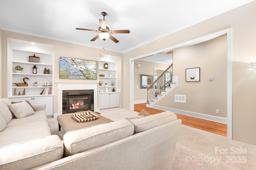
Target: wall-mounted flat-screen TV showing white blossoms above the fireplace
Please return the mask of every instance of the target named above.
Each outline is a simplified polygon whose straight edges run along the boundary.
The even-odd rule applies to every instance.
[[[97,61],[60,57],[60,79],[97,80]]]

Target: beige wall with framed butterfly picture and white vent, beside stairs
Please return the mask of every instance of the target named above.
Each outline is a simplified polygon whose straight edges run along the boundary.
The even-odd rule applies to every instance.
[[[227,117],[227,36],[174,50],[173,63],[178,86],[156,105]],[[195,67],[200,67],[200,82],[186,82],[186,68]],[[175,94],[186,95],[186,103],[174,102]]]

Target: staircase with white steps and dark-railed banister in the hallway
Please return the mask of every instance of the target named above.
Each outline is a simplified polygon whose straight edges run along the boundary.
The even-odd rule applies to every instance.
[[[158,100],[178,85],[178,76],[172,77],[172,65],[147,87],[147,107],[153,108]]]

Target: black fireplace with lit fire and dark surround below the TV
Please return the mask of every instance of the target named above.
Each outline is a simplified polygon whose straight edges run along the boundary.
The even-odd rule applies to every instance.
[[[62,114],[94,111],[94,90],[63,90]]]

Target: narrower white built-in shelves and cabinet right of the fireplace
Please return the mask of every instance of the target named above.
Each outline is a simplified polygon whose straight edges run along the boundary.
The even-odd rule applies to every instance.
[[[115,57],[100,57],[99,59],[99,107],[100,109],[119,107],[120,90],[117,87],[117,59]],[[108,65],[107,69],[105,64]],[[107,83],[107,84],[106,84]],[[112,90],[114,89],[114,92]]]

